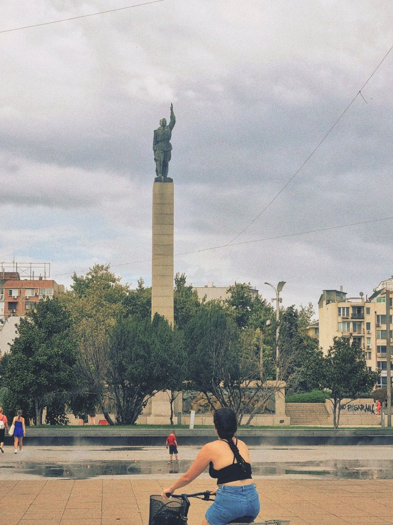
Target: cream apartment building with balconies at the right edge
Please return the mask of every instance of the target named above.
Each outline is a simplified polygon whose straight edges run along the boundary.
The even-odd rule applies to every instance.
[[[361,345],[370,370],[380,370],[378,385],[386,386],[387,322],[392,325],[392,298],[389,319],[385,289],[393,290],[393,277],[381,281],[366,298],[347,297],[342,290],[323,290],[319,300],[319,344],[327,352],[334,337],[352,338]],[[391,332],[390,332],[391,337]]]

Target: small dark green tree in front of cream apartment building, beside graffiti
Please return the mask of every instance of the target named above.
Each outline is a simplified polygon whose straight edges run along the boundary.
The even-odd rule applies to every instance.
[[[333,425],[340,424],[341,401],[348,397],[355,399],[360,393],[372,390],[378,379],[378,372],[368,371],[362,349],[349,338],[335,338],[328,354],[321,356],[319,387],[331,390]]]

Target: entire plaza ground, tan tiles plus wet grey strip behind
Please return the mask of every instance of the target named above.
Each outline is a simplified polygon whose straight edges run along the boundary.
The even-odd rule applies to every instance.
[[[179,465],[167,465],[161,447],[28,447],[23,454],[12,454],[6,447],[0,456],[0,523],[7,525],[147,525],[150,494],[160,493],[171,480],[187,468],[197,447],[180,448]],[[331,479],[323,471],[302,473],[284,468],[281,474],[255,476],[260,496],[259,518],[289,519],[290,525],[393,524],[393,476],[377,479],[374,463],[388,462],[391,447],[255,447],[253,463],[301,466],[305,461],[359,461],[369,465],[368,479]],[[150,464],[147,473],[113,475],[111,465],[141,462]],[[362,463],[363,462],[363,463]],[[67,478],[67,465],[102,465],[88,479]],[[57,465],[56,472],[40,470],[39,465]],[[183,468],[184,467],[184,468]],[[89,470],[89,469],[88,469]],[[48,472],[49,476],[48,477]],[[47,475],[46,475],[47,474]],[[374,478],[374,479],[372,479]],[[187,492],[214,487],[202,474]],[[189,522],[200,523],[209,503],[192,500]]]

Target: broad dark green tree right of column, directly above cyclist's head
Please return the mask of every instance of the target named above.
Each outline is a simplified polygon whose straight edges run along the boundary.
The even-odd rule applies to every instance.
[[[248,425],[263,412],[280,384],[267,386],[260,360],[260,335],[239,330],[220,304],[206,303],[185,328],[192,387],[204,394],[211,408],[229,406],[238,423]]]

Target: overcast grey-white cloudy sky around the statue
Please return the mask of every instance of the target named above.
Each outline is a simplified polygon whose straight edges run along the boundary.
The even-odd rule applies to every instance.
[[[285,307],[371,295],[393,274],[391,1],[130,2],[2,6],[0,262],[149,286],[173,103],[175,272],[269,300],[285,280]]]

